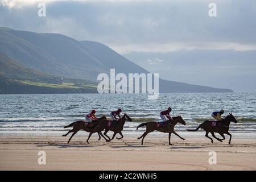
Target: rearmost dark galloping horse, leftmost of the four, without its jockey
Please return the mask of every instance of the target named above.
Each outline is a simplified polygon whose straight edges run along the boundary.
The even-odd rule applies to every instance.
[[[102,121],[105,121],[105,120],[106,120],[106,117],[105,117],[105,116],[102,116],[101,118],[98,118],[97,121],[94,121],[94,122],[95,122],[94,126],[96,126],[98,123],[100,123],[100,122],[102,122]],[[86,126],[86,125],[85,125],[85,121],[80,120],[80,121],[73,122],[73,123],[71,123],[71,124],[68,125],[68,126],[64,126],[64,129],[67,128],[67,127],[71,127],[71,126],[73,126],[73,129],[72,129],[72,130],[69,130],[67,134],[62,135],[62,137],[66,137],[69,133],[72,133],[72,132],[73,132],[73,134],[71,135],[71,137],[68,139],[68,143],[70,142],[70,140],[72,139],[72,137],[73,137],[79,130],[84,130],[84,131],[87,131],[87,132],[90,133],[88,139],[86,140],[87,143],[89,143],[88,141],[89,141],[90,135],[92,135],[93,133],[96,133],[96,132],[98,133],[98,137],[99,137],[98,140],[101,139],[100,136],[102,136],[103,138],[105,138],[104,135],[102,135],[101,131],[98,131],[98,130],[97,130],[96,128],[94,128],[93,126],[91,126],[91,127],[90,127],[90,126]],[[108,141],[108,139],[106,139],[106,138],[105,138],[105,140]]]

